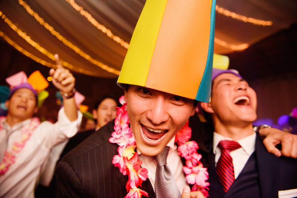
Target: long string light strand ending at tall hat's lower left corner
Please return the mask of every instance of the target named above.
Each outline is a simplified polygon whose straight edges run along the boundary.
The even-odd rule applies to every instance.
[[[59,39],[64,45],[69,47],[70,49],[73,49],[77,54],[79,54],[84,59],[88,60],[94,65],[97,65],[98,67],[104,69],[105,71],[108,71],[110,73],[119,75],[120,71],[109,67],[106,64],[103,64],[102,62],[93,59],[89,54],[86,54],[83,50],[79,49],[76,45],[71,43],[69,40],[67,40],[64,36],[60,35],[59,32],[55,31],[55,29],[50,26],[48,23],[44,21],[43,18],[41,18],[36,12],[34,12],[29,5],[26,4],[26,2],[19,0],[19,3],[26,9],[26,11],[33,16],[37,22],[39,22],[40,25],[44,26],[52,35],[54,35],[57,39]]]

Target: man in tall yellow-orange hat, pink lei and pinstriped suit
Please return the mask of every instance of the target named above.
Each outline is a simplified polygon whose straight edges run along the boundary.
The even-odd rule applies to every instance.
[[[215,1],[146,1],[117,81],[123,106],[58,163],[58,197],[207,195],[187,121],[209,101],[214,14]]]

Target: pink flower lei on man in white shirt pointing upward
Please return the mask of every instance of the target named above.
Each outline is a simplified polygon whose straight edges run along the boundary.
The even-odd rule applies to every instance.
[[[2,130],[2,128],[3,128],[3,126],[2,126],[3,119],[5,119],[5,116],[0,117],[0,130]],[[39,124],[40,124],[40,121],[37,117],[32,118],[30,121],[30,124],[25,126],[22,129],[22,139],[13,143],[10,151],[8,151],[8,149],[6,149],[4,151],[4,158],[2,160],[2,163],[0,164],[0,176],[4,175],[4,173],[6,173],[8,171],[9,167],[13,163],[15,163],[17,153],[19,153],[23,149],[26,142],[31,137],[33,130]]]

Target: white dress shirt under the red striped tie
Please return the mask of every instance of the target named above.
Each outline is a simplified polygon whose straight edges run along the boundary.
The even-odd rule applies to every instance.
[[[218,143],[221,140],[232,139],[224,137],[216,132],[213,133],[213,153],[215,154],[215,166],[217,166],[217,162],[221,156],[221,149],[218,147]],[[235,179],[238,177],[239,173],[247,163],[248,158],[250,158],[251,154],[255,151],[256,133],[253,132],[253,134],[237,142],[241,145],[241,148],[230,152],[233,160]]]

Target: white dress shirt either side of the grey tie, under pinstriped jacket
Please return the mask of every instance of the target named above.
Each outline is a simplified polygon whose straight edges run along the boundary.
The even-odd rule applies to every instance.
[[[183,172],[183,163],[181,161],[180,156],[178,155],[177,146],[176,144],[174,144],[174,139],[175,137],[171,139],[170,142],[167,144],[167,146],[170,147],[169,153],[167,156],[167,165],[171,173],[174,175],[177,187],[179,188],[181,193],[184,186],[188,184]],[[142,161],[141,167],[146,168],[148,170],[148,178],[155,191],[155,177],[156,177],[157,162],[153,157],[142,155],[138,150],[137,150],[137,153],[139,155],[138,157],[139,160]]]

